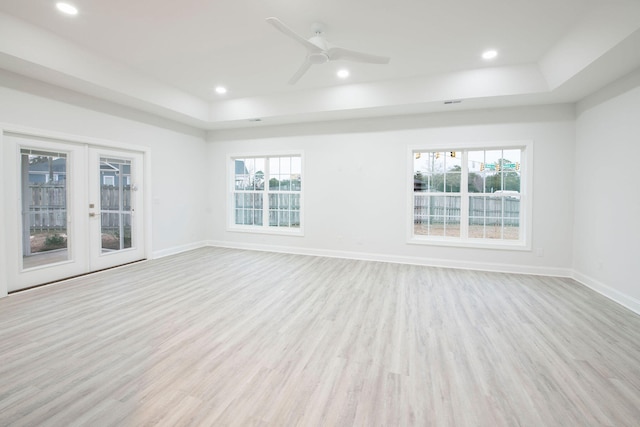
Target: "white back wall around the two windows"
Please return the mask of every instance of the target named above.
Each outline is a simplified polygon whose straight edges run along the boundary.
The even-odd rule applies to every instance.
[[[561,105],[211,132],[209,235],[233,247],[569,275],[574,130],[573,107]],[[409,146],[521,140],[534,144],[532,251],[407,244]],[[227,231],[228,154],[299,149],[305,236]]]

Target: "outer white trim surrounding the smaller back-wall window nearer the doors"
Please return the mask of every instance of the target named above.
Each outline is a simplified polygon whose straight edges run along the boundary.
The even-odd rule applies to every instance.
[[[234,190],[235,190],[235,162],[237,158],[251,157],[290,157],[299,156],[302,170],[302,187],[300,189],[300,227],[270,227],[269,225],[244,225],[236,224],[234,220]],[[296,151],[257,151],[247,153],[228,153],[227,154],[227,231],[251,233],[251,234],[271,234],[278,236],[304,236],[304,191],[305,191],[305,168],[304,168],[304,152]]]

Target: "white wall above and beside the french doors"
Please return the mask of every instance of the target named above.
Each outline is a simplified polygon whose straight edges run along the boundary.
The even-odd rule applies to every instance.
[[[204,132],[4,71],[0,82],[0,123],[149,148],[153,202],[148,256],[203,244]]]

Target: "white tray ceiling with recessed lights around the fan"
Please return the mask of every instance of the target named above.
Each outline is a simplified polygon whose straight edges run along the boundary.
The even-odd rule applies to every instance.
[[[640,0],[70,3],[75,17],[0,0],[0,68],[202,129],[574,102],[640,67]],[[305,51],[270,16],[391,61],[317,65],[288,85]],[[499,56],[483,61],[487,48]]]

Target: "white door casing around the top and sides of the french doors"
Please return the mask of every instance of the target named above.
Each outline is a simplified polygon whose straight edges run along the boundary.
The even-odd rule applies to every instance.
[[[13,133],[19,134],[26,137],[34,137],[34,138],[46,138],[51,139],[53,141],[67,142],[71,144],[79,144],[86,146],[88,149],[91,146],[102,147],[108,150],[122,150],[122,151],[130,151],[130,152],[138,152],[142,154],[142,162],[143,162],[143,206],[144,212],[140,218],[140,226],[143,227],[144,230],[144,239],[143,242],[140,242],[143,245],[144,256],[146,259],[151,259],[152,257],[152,183],[151,183],[151,149],[148,146],[140,145],[139,143],[125,143],[118,142],[109,139],[95,138],[84,135],[76,135],[65,132],[57,132],[46,129],[33,128],[28,126],[15,125],[10,123],[0,122],[0,164],[4,164],[7,157],[13,158],[14,153],[13,150],[9,150],[7,148],[7,144],[5,142],[5,133]],[[4,169],[4,168],[3,168]],[[17,265],[11,265],[8,261],[9,258],[9,250],[7,246],[10,242],[13,242],[13,238],[8,239],[9,232],[11,230],[11,224],[13,221],[11,220],[11,224],[7,221],[12,217],[12,215],[5,213],[6,211],[6,180],[5,180],[5,172],[0,172],[0,236],[2,239],[0,240],[0,298],[8,295],[9,289],[9,278],[11,277],[10,271],[18,268]],[[14,230],[15,231],[15,230]],[[10,270],[11,269],[11,270]],[[64,279],[62,279],[64,280]]]

